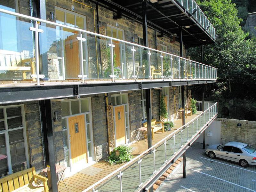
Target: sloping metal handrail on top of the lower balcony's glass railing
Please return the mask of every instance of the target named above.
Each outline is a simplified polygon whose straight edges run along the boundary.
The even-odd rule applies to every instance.
[[[214,105],[210,106],[209,108],[207,108],[206,110],[204,110],[202,113],[200,113],[198,116],[196,116],[196,118],[190,120],[188,123],[186,123],[185,125],[181,126],[179,129],[175,130],[174,132],[170,133],[169,135],[167,135],[165,138],[163,138],[162,140],[158,141],[155,145],[153,145],[152,147],[148,148],[147,150],[145,150],[144,152],[142,152],[139,156],[136,156],[135,158],[133,158],[131,161],[127,162],[126,164],[122,165],[121,167],[119,167],[118,169],[116,169],[115,171],[113,171],[112,173],[109,173],[107,176],[105,176],[104,178],[102,178],[101,180],[97,181],[96,183],[94,183],[93,185],[91,185],[90,187],[86,188],[83,190],[83,192],[86,192],[90,189],[93,189],[95,186],[97,186],[98,184],[100,184],[101,182],[103,182],[104,180],[108,179],[109,177],[111,177],[112,175],[116,174],[117,172],[120,172],[124,167],[132,164],[134,161],[138,160],[141,156],[143,156],[144,154],[148,153],[149,151],[151,151],[152,149],[156,148],[157,145],[159,145],[160,143],[162,143],[163,141],[165,141],[166,139],[172,137],[173,135],[175,135],[175,133],[179,132],[180,130],[182,130],[184,127],[190,125],[192,122],[194,122],[195,119],[198,119],[199,116],[203,116],[203,114],[205,113],[205,111],[208,111],[210,108],[212,108],[213,106],[217,106],[218,102],[215,102]],[[217,110],[216,110],[217,111]]]

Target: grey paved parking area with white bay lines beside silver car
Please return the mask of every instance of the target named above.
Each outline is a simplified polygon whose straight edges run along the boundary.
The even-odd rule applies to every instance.
[[[242,168],[230,161],[210,159],[202,147],[195,142],[186,152],[186,179],[181,162],[156,191],[255,192],[256,166]]]

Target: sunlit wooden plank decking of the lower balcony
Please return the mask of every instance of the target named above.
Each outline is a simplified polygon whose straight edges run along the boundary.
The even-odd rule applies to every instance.
[[[190,120],[196,118],[197,115],[192,115],[192,116],[188,116],[188,118],[186,119],[186,122],[189,122]],[[162,140],[164,137],[166,137],[167,135],[169,135],[170,133],[172,133],[173,131],[175,131],[176,129],[180,128],[182,126],[182,119],[178,119],[174,122],[175,124],[175,129],[171,130],[171,131],[167,131],[167,132],[164,132],[164,133],[156,133],[155,134],[155,139],[152,140],[152,143],[153,145],[156,144],[158,141]],[[192,134],[192,133],[191,133]],[[179,138],[177,138],[179,139]],[[185,139],[184,139],[185,140]],[[184,142],[184,141],[183,141]],[[168,143],[167,143],[168,144]],[[171,142],[169,143],[171,145]],[[132,151],[132,155],[133,157],[136,157],[138,155],[140,155],[142,152],[144,152],[145,150],[147,150],[148,148],[148,142],[146,140],[146,142],[144,140],[140,140],[139,142],[136,142],[136,143],[133,143],[131,145],[134,150]],[[180,145],[181,146],[181,145]],[[173,148],[173,146],[169,147],[169,148]],[[175,146],[176,149],[179,148],[179,146]],[[163,149],[159,149],[159,151],[162,151],[163,152]],[[173,152],[173,151],[172,151]],[[164,156],[160,154],[160,152],[158,152],[158,162],[159,161],[164,161]],[[171,152],[170,152],[171,153]],[[164,154],[164,152],[162,153]],[[152,155],[152,154],[151,154]],[[171,154],[170,154],[171,155]],[[143,157],[144,158],[144,157]],[[147,166],[146,163],[147,163],[147,158],[148,159],[151,159],[150,156],[148,157],[145,157],[144,159],[144,165],[145,167]],[[148,160],[149,161],[149,160]],[[151,163],[151,160],[150,160],[150,163]],[[101,168],[103,169],[101,172],[97,173],[96,175],[94,176],[89,176],[89,175],[86,175],[86,174],[82,174],[82,173],[76,173],[68,178],[66,178],[64,181],[65,181],[65,184],[67,185],[68,187],[68,190],[66,189],[65,185],[63,184],[63,182],[60,182],[59,184],[59,191],[83,191],[84,189],[88,188],[89,186],[91,186],[92,184],[94,184],[95,182],[99,181],[100,179],[104,178],[105,176],[107,176],[109,173],[115,171],[117,168],[121,167],[123,164],[118,164],[118,165],[110,165],[109,163],[105,162],[104,160],[102,161],[99,161],[95,164],[93,164],[92,166],[93,167],[98,167],[98,168]],[[141,164],[141,166],[143,167],[143,164]],[[160,166],[160,164],[159,164]],[[158,167],[159,167],[158,166]],[[138,172],[137,168],[135,167],[131,167],[131,170],[133,169],[133,171],[136,171]],[[127,171],[129,172],[129,171]],[[145,173],[148,175],[148,173]],[[132,179],[135,179],[138,181],[138,178],[133,178],[133,177],[130,177],[130,178],[124,178],[126,180],[126,182],[132,182]],[[146,179],[146,177],[145,177]],[[136,181],[136,182],[137,182]],[[111,181],[111,183],[115,183],[115,185],[117,185],[118,187],[118,180],[115,180],[115,181]],[[124,183],[124,181],[123,181]],[[114,184],[112,184],[114,185]],[[137,185],[137,184],[136,184]],[[105,190],[104,188],[102,188],[101,190],[99,191],[115,191],[114,189],[112,190],[111,189],[111,186],[106,186],[106,188],[108,188],[108,190]],[[116,189],[116,188],[115,188]],[[123,190],[124,191],[124,190]],[[128,190],[128,188],[125,190],[125,191],[132,191],[132,190]]]

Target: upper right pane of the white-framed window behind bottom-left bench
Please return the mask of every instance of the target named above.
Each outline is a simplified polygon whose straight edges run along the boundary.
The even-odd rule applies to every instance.
[[[8,129],[22,127],[21,108],[6,108]]]

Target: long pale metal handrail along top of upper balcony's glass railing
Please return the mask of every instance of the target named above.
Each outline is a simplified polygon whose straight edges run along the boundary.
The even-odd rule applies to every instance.
[[[47,21],[47,20],[31,17],[31,16],[28,16],[28,15],[23,15],[23,14],[20,14],[20,13],[16,13],[16,12],[11,12],[11,11],[4,10],[4,9],[0,9],[0,12],[6,13],[6,14],[10,14],[10,15],[13,15],[13,16],[17,16],[17,17],[20,17],[20,18],[28,19],[28,20],[33,20],[33,21],[36,21],[36,22],[39,21],[39,22],[42,22],[42,23],[46,23],[46,24],[50,24],[50,25],[54,25],[54,26],[58,26],[58,27],[64,27],[64,28],[73,29],[73,30],[80,31],[80,32],[83,32],[83,33],[87,33],[87,34],[90,34],[90,35],[93,35],[93,36],[99,36],[99,37],[103,37],[103,38],[108,38],[108,39],[119,41],[119,42],[122,42],[122,43],[125,43],[125,44],[130,44],[130,45],[134,45],[134,46],[137,46],[137,47],[140,47],[140,48],[143,48],[143,49],[152,50],[152,51],[159,52],[159,53],[164,53],[164,54],[167,54],[167,55],[170,55],[170,56],[178,57],[178,58],[183,59],[183,60],[188,60],[188,61],[193,62],[193,63],[204,65],[206,67],[217,69],[215,67],[208,66],[208,65],[205,65],[203,63],[199,63],[197,61],[189,60],[189,59],[186,59],[186,58],[183,58],[183,57],[171,54],[171,53],[159,51],[159,50],[156,50],[156,49],[153,49],[153,48],[145,47],[143,45],[127,42],[127,41],[124,41],[124,40],[121,40],[121,39],[116,39],[114,37],[109,37],[109,36],[101,35],[101,34],[98,34],[98,33],[91,32],[91,31],[86,31],[84,29],[75,28],[75,27],[63,25],[63,24],[60,24],[60,23],[55,23],[55,22],[52,22],[52,21]]]

